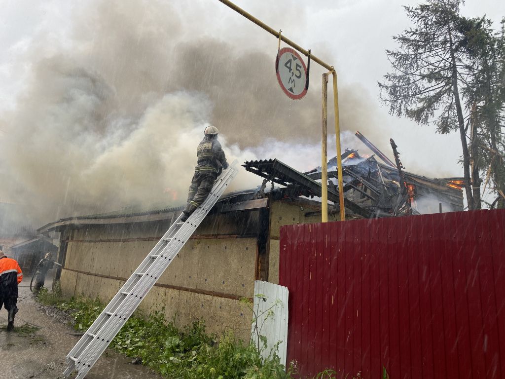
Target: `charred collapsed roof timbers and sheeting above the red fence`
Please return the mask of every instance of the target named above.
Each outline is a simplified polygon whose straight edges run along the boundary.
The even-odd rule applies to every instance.
[[[395,163],[387,158],[363,134],[356,132],[384,163],[360,156],[357,150],[346,149],[342,154],[344,203],[352,217],[375,218],[438,213],[440,204],[446,211],[463,210],[463,178],[429,178],[405,171],[396,145],[391,139]],[[333,212],[339,211],[336,157],[328,162],[328,200]],[[294,200],[298,197],[321,197],[321,168],[301,173],[277,159],[248,161],[242,165],[247,171],[264,178],[258,197]],[[266,183],[272,189],[265,193]],[[282,188],[273,188],[273,183]]]

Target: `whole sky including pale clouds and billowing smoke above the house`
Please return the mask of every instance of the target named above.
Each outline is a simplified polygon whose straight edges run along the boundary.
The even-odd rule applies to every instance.
[[[378,101],[384,50],[409,27],[401,5],[415,2],[236,3],[336,67],[343,148],[370,153],[352,137],[360,130],[391,156],[393,137],[407,170],[462,175],[457,134],[389,116]],[[277,40],[217,0],[4,0],[0,9],[0,198],[35,223],[184,203],[209,123],[230,160],[321,163],[324,69],[312,63],[307,97],[289,100],[275,78]],[[472,0],[463,13],[497,27],[505,3]],[[234,188],[260,183],[244,172]]]

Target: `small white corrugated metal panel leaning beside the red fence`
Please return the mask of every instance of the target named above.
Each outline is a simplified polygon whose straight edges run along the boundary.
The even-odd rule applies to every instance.
[[[282,364],[286,365],[287,353],[287,320],[288,320],[288,290],[268,281],[255,280],[254,312],[258,319],[252,323],[251,338],[258,347],[258,331],[267,339],[267,348],[263,349],[263,358],[268,358],[272,349],[279,343],[277,355]],[[262,295],[261,297],[259,295]],[[255,317],[255,316],[253,316]]]

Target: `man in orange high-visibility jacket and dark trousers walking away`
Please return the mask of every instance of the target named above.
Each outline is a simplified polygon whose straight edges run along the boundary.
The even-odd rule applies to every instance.
[[[23,272],[15,259],[7,258],[0,250],[0,309],[9,312],[7,331],[14,328],[14,316],[18,312],[18,284],[23,280]]]

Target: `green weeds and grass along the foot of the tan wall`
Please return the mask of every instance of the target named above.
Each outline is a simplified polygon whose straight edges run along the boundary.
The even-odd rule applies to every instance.
[[[66,299],[61,293],[40,291],[38,300],[45,305],[55,305],[71,313],[74,328],[85,331],[104,309],[98,299]],[[111,348],[131,358],[140,358],[148,366],[171,379],[292,379],[299,377],[296,366],[287,370],[277,354],[264,360],[255,345],[244,343],[233,333],[221,338],[205,333],[205,323],[194,322],[179,329],[174,322],[167,322],[163,311],[149,315],[136,311],[126,321],[112,341]],[[387,374],[386,374],[387,375]],[[350,376],[337,375],[325,370],[317,379],[341,379]],[[360,379],[361,375],[357,376]],[[387,376],[383,376],[386,379]]]

